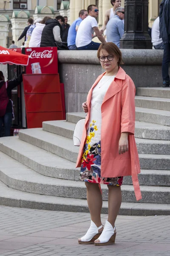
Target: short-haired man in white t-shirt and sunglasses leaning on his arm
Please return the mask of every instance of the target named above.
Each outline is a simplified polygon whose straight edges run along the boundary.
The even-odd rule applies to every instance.
[[[100,44],[93,42],[92,38],[97,36],[99,41],[106,43],[105,38],[97,26],[96,17],[99,15],[99,10],[96,5],[88,6],[88,17],[82,20],[77,30],[76,47],[78,50],[98,50]],[[94,36],[94,32],[96,35]]]

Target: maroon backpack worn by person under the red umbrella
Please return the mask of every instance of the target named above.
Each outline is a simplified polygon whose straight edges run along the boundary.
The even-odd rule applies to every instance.
[[[0,117],[5,115],[9,102],[6,85],[7,83],[5,81],[0,82]]]

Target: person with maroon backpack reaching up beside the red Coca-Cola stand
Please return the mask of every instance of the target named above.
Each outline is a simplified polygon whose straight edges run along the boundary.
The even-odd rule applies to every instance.
[[[23,72],[17,79],[6,82],[3,72],[0,71],[0,137],[3,137],[3,128],[4,137],[10,136],[12,118],[14,117],[11,91],[23,81],[24,70],[23,67]]]

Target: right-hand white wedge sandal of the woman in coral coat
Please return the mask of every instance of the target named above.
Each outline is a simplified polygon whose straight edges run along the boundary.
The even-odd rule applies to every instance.
[[[116,227],[113,228],[109,221],[106,221],[104,230],[99,236],[99,242],[94,242],[95,245],[114,244],[116,238]]]

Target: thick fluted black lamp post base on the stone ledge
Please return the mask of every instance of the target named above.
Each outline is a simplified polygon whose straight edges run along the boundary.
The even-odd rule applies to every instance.
[[[125,34],[123,49],[152,49],[148,34],[148,0],[125,0]]]

